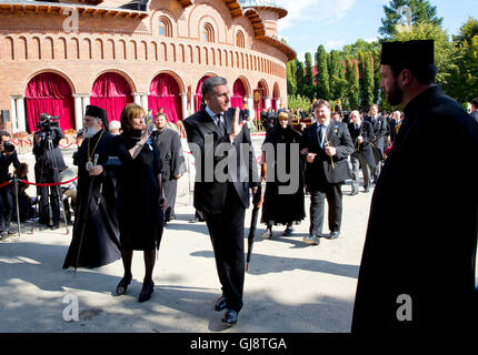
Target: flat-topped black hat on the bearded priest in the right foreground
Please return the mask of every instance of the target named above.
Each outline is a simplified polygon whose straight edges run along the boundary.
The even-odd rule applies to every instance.
[[[400,67],[420,67],[435,63],[432,40],[407,42],[384,42],[381,44],[381,64]]]

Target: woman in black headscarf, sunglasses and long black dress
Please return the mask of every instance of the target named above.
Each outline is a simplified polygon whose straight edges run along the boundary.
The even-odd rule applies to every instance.
[[[270,162],[267,164],[268,169],[270,169],[269,166],[273,166],[275,181],[267,182],[266,193],[263,195],[261,223],[266,223],[267,225],[267,231],[261,235],[263,239],[271,239],[272,225],[278,224],[286,225],[283,235],[291,235],[293,231],[292,224],[298,224],[306,217],[303,205],[303,170],[301,161],[299,159],[299,154],[297,154],[296,158],[290,156],[291,145],[300,144],[301,138],[301,134],[292,129],[289,114],[287,112],[280,112],[276,129],[269,131],[266,135],[266,140],[263,141],[263,144],[270,143],[273,145],[275,154],[275,156],[272,156],[275,160],[273,164],[270,164]],[[281,194],[279,192],[279,186],[288,186],[290,182],[280,182],[278,179],[278,144],[286,144],[286,156],[281,156],[283,158],[281,159],[281,162],[286,163],[286,173],[297,174],[296,176],[299,178],[299,186],[292,194]],[[263,146],[265,145],[262,145],[262,163],[266,163],[266,159],[271,159],[271,156],[266,155]],[[299,171],[291,172],[290,163],[296,159],[299,161]],[[281,170],[283,171],[283,166]]]

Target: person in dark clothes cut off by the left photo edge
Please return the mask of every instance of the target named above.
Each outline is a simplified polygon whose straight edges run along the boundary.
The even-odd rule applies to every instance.
[[[0,184],[11,180],[9,174],[10,164],[20,168],[14,145],[10,143],[10,133],[0,132]],[[13,211],[13,193],[11,184],[0,187],[0,240],[7,239],[7,234],[14,234],[10,229],[11,214]]]

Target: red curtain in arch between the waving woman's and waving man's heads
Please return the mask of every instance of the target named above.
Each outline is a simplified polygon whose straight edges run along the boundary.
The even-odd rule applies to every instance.
[[[159,109],[162,109],[172,123],[182,120],[179,85],[171,75],[159,74],[151,81],[149,85],[148,108],[152,110],[152,115]]]

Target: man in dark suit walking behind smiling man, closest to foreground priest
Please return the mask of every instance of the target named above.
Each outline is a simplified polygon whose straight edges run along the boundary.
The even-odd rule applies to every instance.
[[[350,123],[348,124],[355,151],[350,155],[352,164],[352,192],[351,196],[358,194],[359,190],[359,166],[364,174],[365,192],[370,191],[370,173],[375,169],[375,156],[371,149],[374,141],[374,128],[370,122],[362,121],[358,111],[350,112]]]

